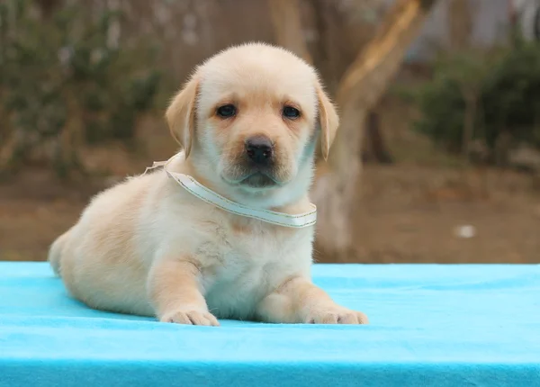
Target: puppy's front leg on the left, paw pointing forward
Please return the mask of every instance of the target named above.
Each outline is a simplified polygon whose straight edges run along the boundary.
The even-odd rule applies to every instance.
[[[199,289],[200,271],[189,261],[157,260],[148,274],[148,296],[157,319],[178,324],[219,326]]]

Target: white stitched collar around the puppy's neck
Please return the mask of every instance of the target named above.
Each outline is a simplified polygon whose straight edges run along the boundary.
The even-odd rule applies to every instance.
[[[257,208],[247,207],[246,205],[238,202],[232,202],[229,199],[221,196],[219,193],[211,191],[211,189],[196,181],[193,176],[169,171],[166,166],[174,157],[169,158],[167,161],[154,162],[152,166],[148,166],[148,168],[146,168],[144,174],[148,172],[148,169],[163,166],[163,169],[169,177],[175,179],[176,183],[180,184],[187,192],[197,196],[203,202],[208,202],[216,207],[219,207],[221,210],[229,211],[247,218],[263,220],[267,223],[291,227],[293,229],[309,227],[314,225],[317,221],[317,207],[313,203],[310,203],[312,208],[311,211],[292,215],[284,212],[260,210]]]

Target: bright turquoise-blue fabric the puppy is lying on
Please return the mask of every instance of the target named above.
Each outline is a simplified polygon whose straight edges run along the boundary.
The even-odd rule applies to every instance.
[[[370,326],[220,328],[92,311],[0,263],[0,386],[540,386],[540,266],[317,265]]]

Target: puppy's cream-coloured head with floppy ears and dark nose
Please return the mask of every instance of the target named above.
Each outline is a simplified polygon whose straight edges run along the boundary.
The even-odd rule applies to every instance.
[[[305,194],[317,140],[328,157],[338,129],[315,70],[260,43],[227,49],[198,67],[166,119],[185,157],[236,199]]]

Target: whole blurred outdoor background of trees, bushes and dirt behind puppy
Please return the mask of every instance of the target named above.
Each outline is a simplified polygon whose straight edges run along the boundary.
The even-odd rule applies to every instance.
[[[170,157],[170,96],[249,40],[318,67],[341,111],[318,261],[540,262],[536,0],[0,0],[0,260],[45,260]]]

